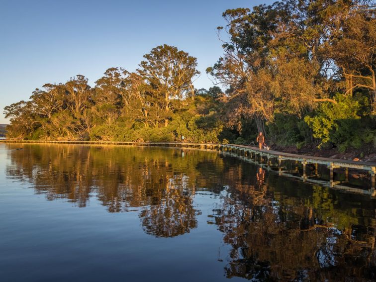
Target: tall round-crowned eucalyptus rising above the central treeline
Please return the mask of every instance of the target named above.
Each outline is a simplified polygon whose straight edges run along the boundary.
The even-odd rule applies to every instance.
[[[153,48],[144,58],[137,71],[149,84],[153,106],[168,126],[171,114],[186,106],[194,95],[192,80],[199,75],[197,59],[166,44]]]

